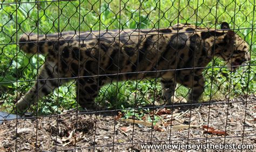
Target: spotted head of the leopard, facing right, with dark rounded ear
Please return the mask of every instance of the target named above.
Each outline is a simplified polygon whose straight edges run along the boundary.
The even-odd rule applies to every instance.
[[[225,32],[223,37],[225,46],[219,52],[219,57],[226,61],[228,70],[234,71],[250,60],[250,47],[244,39],[230,29],[228,23],[222,23],[221,29]]]

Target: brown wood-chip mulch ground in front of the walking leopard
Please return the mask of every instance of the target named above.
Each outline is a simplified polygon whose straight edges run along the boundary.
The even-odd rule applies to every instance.
[[[212,101],[210,106],[156,108],[142,120],[125,119],[120,112],[68,112],[5,121],[0,125],[0,150],[140,150],[142,143],[206,142],[246,143],[256,148],[255,101],[256,95],[250,95],[247,102],[241,96],[230,103]],[[153,127],[147,121],[152,115],[160,118]]]

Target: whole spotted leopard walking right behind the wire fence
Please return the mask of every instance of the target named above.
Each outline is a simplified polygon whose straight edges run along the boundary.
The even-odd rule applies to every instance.
[[[250,59],[248,44],[227,23],[221,24],[221,29],[179,24],[160,30],[123,30],[120,34],[119,30],[23,34],[19,46],[24,52],[37,54],[39,50],[47,56],[39,72],[39,83],[36,81],[18,101],[18,109],[28,107],[37,94],[42,98],[70,80],[62,78],[78,76],[81,78],[77,82],[77,100],[84,108],[95,108],[93,100],[98,89],[117,78],[121,81],[158,77],[169,103],[175,99],[178,82],[193,88],[189,101],[196,102],[204,91],[202,72],[214,56],[232,65],[231,70]]]

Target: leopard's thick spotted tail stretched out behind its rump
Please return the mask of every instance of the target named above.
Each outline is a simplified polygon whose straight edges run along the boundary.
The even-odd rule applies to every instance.
[[[53,34],[24,33],[19,38],[19,47],[23,52],[29,54],[48,54],[52,50],[53,44],[58,41],[58,36]],[[53,51],[53,50],[52,50]]]

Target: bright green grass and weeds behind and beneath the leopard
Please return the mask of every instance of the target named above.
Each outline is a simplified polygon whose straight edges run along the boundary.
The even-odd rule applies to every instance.
[[[22,1],[29,2],[29,1]],[[32,1],[30,1],[32,2]],[[32,82],[24,80],[36,79],[37,61],[39,67],[44,61],[43,56],[28,57],[19,50],[17,38],[24,32],[53,33],[63,31],[89,31],[109,29],[153,29],[169,27],[179,23],[197,24],[198,26],[220,27],[221,22],[230,23],[240,36],[251,45],[251,67],[240,68],[236,73],[230,73],[226,68],[208,68],[205,70],[206,87],[203,100],[210,98],[220,99],[230,95],[231,98],[242,94],[253,94],[256,89],[256,34],[255,17],[253,19],[253,3],[251,1],[237,0],[219,1],[82,1],[79,2],[47,2],[47,3],[3,3],[0,9],[0,100],[4,101],[3,110],[10,111],[14,105],[17,91],[25,93]],[[198,2],[198,3],[197,3]],[[37,9],[37,6],[39,9]],[[17,9],[16,9],[17,8]],[[198,9],[197,9],[198,8]],[[217,10],[216,10],[217,9]],[[121,10],[121,13],[119,13]],[[179,13],[178,13],[179,11]],[[255,10],[254,10],[255,13]],[[99,22],[100,15],[100,22]],[[39,18],[39,20],[37,20]],[[120,20],[120,22],[119,22]],[[160,22],[158,23],[158,21]],[[140,21],[140,22],[139,22]],[[254,21],[254,23],[252,23]],[[38,24],[37,24],[38,23]],[[80,23],[80,24],[79,24]],[[37,26],[38,25],[38,26]],[[243,29],[251,28],[251,29]],[[253,32],[253,34],[252,34]],[[209,67],[225,66],[219,59],[210,63]],[[19,80],[18,82],[16,82]],[[154,100],[154,91],[159,100],[160,84],[154,80],[139,81],[136,88],[135,81],[116,82],[100,90],[100,102],[106,103],[110,108],[133,107],[146,105]],[[247,83],[249,84],[247,85]],[[118,89],[117,89],[118,86]],[[180,86],[177,95],[186,96],[188,89]],[[118,94],[116,95],[116,93]],[[137,94],[135,99],[135,94]],[[59,100],[57,100],[59,97]],[[39,103],[39,112],[49,114],[59,110],[76,107],[76,91],[73,83],[60,87],[44,99],[48,102]],[[116,102],[117,101],[117,102]],[[116,105],[117,103],[117,105]]]

